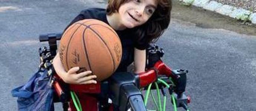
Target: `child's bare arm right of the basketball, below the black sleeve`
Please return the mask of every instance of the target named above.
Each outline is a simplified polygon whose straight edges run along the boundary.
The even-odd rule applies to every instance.
[[[146,50],[134,48],[134,73],[138,74],[145,71]]]

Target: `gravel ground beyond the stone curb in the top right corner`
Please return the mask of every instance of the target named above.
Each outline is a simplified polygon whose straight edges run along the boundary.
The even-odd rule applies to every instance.
[[[212,0],[230,6],[241,7],[256,12],[256,0]]]

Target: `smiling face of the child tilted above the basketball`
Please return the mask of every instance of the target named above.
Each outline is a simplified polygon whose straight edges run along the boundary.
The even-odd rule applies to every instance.
[[[121,23],[127,28],[144,24],[157,8],[157,0],[130,0],[119,7]]]

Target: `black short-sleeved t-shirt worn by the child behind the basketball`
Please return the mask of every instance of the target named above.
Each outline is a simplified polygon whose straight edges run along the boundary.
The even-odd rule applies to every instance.
[[[97,19],[109,25],[106,19],[106,9],[90,8],[82,10],[81,13],[66,27],[66,29],[73,23],[83,19]],[[65,30],[66,30],[65,29]],[[136,41],[136,36],[132,33],[131,29],[115,30],[118,34],[122,44],[122,58],[116,72],[127,71],[127,67],[134,61],[134,47],[140,50],[145,50],[148,46],[147,42]]]

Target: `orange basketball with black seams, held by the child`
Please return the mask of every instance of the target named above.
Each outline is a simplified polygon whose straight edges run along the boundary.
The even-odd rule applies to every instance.
[[[90,70],[97,81],[102,81],[115,72],[121,61],[121,41],[103,21],[80,20],[63,33],[59,55],[66,71],[78,66],[79,72]]]

